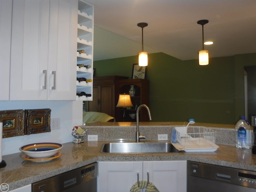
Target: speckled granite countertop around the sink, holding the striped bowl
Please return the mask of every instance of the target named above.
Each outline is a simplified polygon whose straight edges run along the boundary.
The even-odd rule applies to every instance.
[[[191,160],[256,171],[256,155],[250,150],[237,149],[233,145],[218,144],[219,148],[215,152],[101,153],[100,148],[106,142],[110,141],[85,141],[81,144],[68,142],[63,144],[60,158],[46,162],[24,160],[22,152],[3,156],[7,166],[0,168],[0,183],[9,184],[10,190],[13,190],[96,161]]]

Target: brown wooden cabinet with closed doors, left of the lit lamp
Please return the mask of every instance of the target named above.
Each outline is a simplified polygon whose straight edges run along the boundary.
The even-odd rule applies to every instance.
[[[124,76],[94,77],[93,100],[86,102],[86,111],[102,112],[116,118],[118,80],[127,78]]]

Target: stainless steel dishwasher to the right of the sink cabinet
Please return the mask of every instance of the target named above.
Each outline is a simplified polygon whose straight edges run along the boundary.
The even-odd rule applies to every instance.
[[[188,192],[255,192],[256,172],[187,162]]]

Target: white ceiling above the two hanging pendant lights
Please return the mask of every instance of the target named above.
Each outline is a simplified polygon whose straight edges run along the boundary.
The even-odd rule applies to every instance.
[[[141,44],[144,28],[144,51],[164,52],[181,60],[198,58],[202,49],[202,26],[198,20],[207,19],[204,46],[210,57],[232,56],[256,52],[256,0],[86,0],[94,5],[94,26]],[[140,50],[125,50],[118,40],[106,44],[94,35],[94,60],[131,56]],[[110,43],[108,43],[110,45]],[[145,47],[146,46],[146,47]],[[125,54],[116,55],[116,51]],[[100,49],[98,51],[98,49]],[[103,56],[100,53],[105,54]],[[157,51],[154,51],[157,50]],[[114,54],[114,55],[113,55]],[[129,55],[130,54],[130,55]]]

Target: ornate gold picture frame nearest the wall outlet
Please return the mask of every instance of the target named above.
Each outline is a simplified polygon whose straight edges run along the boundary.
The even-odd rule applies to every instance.
[[[25,110],[25,134],[50,132],[50,109],[26,109]]]

